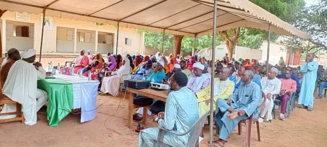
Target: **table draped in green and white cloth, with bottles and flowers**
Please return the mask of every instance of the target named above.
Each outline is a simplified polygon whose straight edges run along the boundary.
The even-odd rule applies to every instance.
[[[58,126],[72,109],[77,108],[81,108],[81,123],[94,119],[100,82],[88,80],[85,76],[79,77],[77,74],[62,75],[57,72],[53,76],[55,78],[38,80],[38,89],[49,94],[47,106],[49,125]]]

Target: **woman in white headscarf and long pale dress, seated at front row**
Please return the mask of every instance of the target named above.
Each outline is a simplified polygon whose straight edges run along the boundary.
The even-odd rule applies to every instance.
[[[122,81],[129,80],[130,76],[130,60],[126,57],[123,59],[123,66],[119,70],[112,72],[110,76],[106,76],[102,80],[100,95],[106,95],[107,93],[112,96],[116,96],[119,90],[120,76],[122,75]],[[127,74],[127,75],[125,75]]]

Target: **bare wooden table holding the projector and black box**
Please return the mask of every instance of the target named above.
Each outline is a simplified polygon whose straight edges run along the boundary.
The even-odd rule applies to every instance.
[[[133,104],[134,93],[164,102],[166,102],[168,97],[168,90],[156,90],[152,88],[137,90],[129,87],[126,90],[129,92],[128,125],[127,125],[129,128],[131,127],[133,121],[134,108],[140,107]],[[147,117],[147,108],[145,107],[145,109],[143,110],[143,118],[142,118],[143,124],[146,123],[146,117]]]

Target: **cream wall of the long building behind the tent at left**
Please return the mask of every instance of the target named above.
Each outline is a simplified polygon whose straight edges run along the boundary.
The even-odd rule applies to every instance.
[[[19,10],[18,10],[19,11]],[[20,12],[20,11],[19,11]],[[16,20],[15,18],[15,12],[10,12],[7,11],[6,13],[3,14],[1,17],[1,22],[6,22],[6,21],[17,21],[17,22],[26,22],[26,23],[32,23],[34,25],[34,41],[33,41],[33,47],[36,49],[37,52],[40,52],[40,43],[41,43],[41,32],[42,28],[40,25],[41,19],[42,19],[42,14],[30,14],[30,21],[21,21],[21,20]],[[47,16],[47,13],[46,13]],[[117,28],[113,28],[112,25],[104,25],[104,26],[95,26],[93,22],[87,22],[87,21],[77,21],[77,20],[71,20],[71,19],[66,19],[66,18],[59,18],[59,17],[53,17],[53,28],[52,30],[44,30],[44,35],[43,35],[43,48],[42,52],[43,53],[54,53],[57,52],[57,44],[62,43],[60,41],[62,36],[59,36],[59,42],[57,41],[57,27],[68,27],[68,28],[73,28],[75,29],[84,29],[84,30],[91,30],[91,31],[101,31],[101,32],[107,32],[107,33],[112,33],[114,34],[113,37],[113,42],[114,46],[116,46],[116,39],[117,39]],[[3,25],[1,25],[1,30]],[[1,31],[2,33],[3,31]],[[4,36],[3,34],[1,34]],[[119,28],[119,38],[118,38],[118,47],[122,47],[122,53],[129,53],[129,54],[136,54],[136,53],[142,53],[143,50],[140,49],[140,44],[143,43],[143,40],[141,39],[141,34],[138,34],[136,32],[136,29],[130,29],[130,28],[124,28],[120,27]],[[6,37],[5,37],[6,38]],[[3,38],[2,41],[3,43],[7,43],[6,39]],[[130,38],[132,39],[132,45],[126,45],[125,44],[125,38]],[[143,38],[142,38],[143,39]],[[73,43],[74,45],[75,43]],[[81,43],[79,43],[81,44]],[[93,43],[94,49],[95,49],[95,43]],[[4,45],[5,48],[6,45]],[[71,46],[71,44],[69,44]],[[79,52],[78,49],[81,49],[82,47],[77,47],[74,46],[73,52]],[[6,49],[7,50],[7,49]],[[96,49],[95,49],[96,50]],[[115,51],[115,47],[114,47]],[[71,51],[69,51],[71,52]]]

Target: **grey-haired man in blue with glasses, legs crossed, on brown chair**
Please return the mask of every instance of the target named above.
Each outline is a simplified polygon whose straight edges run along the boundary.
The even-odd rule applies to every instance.
[[[260,87],[252,81],[253,72],[245,70],[241,73],[242,84],[226,102],[216,101],[216,123],[220,128],[219,140],[214,146],[224,146],[227,136],[232,133],[241,120],[258,117],[257,106],[261,103]]]

